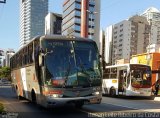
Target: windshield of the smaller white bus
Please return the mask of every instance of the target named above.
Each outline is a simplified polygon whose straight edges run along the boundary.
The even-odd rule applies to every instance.
[[[131,85],[135,88],[151,87],[151,69],[149,66],[131,65]]]

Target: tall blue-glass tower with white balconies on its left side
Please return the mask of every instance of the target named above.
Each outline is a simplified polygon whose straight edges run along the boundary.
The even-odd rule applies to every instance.
[[[48,0],[20,0],[20,47],[37,35],[45,34]]]

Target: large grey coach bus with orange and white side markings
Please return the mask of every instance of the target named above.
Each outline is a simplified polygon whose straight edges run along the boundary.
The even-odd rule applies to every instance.
[[[46,108],[100,104],[102,73],[93,40],[61,35],[32,39],[10,59],[18,99]]]

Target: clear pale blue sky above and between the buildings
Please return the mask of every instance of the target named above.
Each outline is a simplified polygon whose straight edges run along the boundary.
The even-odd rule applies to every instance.
[[[64,0],[49,0],[49,12],[62,13]],[[147,8],[160,9],[160,0],[101,0],[100,27],[106,29]],[[19,48],[19,0],[0,3],[0,49]]]

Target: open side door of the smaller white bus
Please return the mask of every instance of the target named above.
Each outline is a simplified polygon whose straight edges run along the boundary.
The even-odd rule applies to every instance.
[[[124,94],[126,92],[126,76],[127,70],[119,70],[118,77],[118,94]]]

